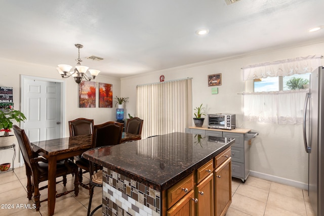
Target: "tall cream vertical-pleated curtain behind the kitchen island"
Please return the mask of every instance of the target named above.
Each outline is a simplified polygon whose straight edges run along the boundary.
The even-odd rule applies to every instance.
[[[142,138],[185,132],[192,118],[191,78],[138,85],[136,91]]]

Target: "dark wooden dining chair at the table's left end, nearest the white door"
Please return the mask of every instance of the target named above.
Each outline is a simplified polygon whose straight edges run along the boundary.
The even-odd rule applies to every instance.
[[[40,157],[38,154],[33,152],[29,139],[23,129],[19,128],[17,125],[13,125],[13,129],[25,162],[27,176],[27,198],[31,200],[32,193],[34,192],[36,210],[38,211],[41,207],[41,202],[47,200],[40,200],[41,194],[39,193],[39,190],[48,188],[48,186],[39,188],[38,185],[39,183],[48,180],[48,161],[44,157]],[[72,173],[74,174],[74,190],[57,194],[56,197],[66,195],[72,191],[74,191],[75,196],[78,195],[79,190],[77,172],[78,167],[70,160],[62,160],[57,163],[56,177],[63,177],[64,187],[66,186],[66,175]],[[56,184],[60,182],[57,182]]]

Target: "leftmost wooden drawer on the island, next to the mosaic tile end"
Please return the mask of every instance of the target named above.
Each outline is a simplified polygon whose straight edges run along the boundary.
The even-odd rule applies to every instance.
[[[167,191],[168,209],[193,189],[193,174],[190,174]]]

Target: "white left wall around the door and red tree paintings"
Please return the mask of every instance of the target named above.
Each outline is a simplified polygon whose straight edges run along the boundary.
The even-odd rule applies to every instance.
[[[60,74],[56,70],[56,66],[48,67],[44,65],[29,64],[26,62],[17,62],[8,59],[0,58],[0,65],[2,70],[0,71],[0,86],[13,87],[13,99],[15,109],[20,109],[20,75],[29,75],[37,77],[46,77],[53,79],[62,79]],[[68,137],[68,121],[78,118],[90,118],[94,119],[95,124],[103,123],[109,120],[115,120],[116,109],[114,108],[99,108],[98,107],[98,91],[97,91],[97,105],[96,108],[79,108],[78,107],[78,84],[74,82],[72,77],[64,79],[66,82],[66,96],[65,96],[65,132],[64,137]],[[112,84],[113,97],[120,97],[120,79],[116,77],[104,77],[99,74],[95,81]],[[3,132],[1,132],[3,133]],[[13,132],[11,132],[13,134]],[[3,135],[3,134],[0,134]],[[16,149],[19,149],[18,143]],[[9,154],[7,157],[6,154]],[[9,150],[0,151],[0,163],[9,162],[12,158]],[[19,161],[19,154],[15,159]],[[17,166],[16,166],[17,167]]]

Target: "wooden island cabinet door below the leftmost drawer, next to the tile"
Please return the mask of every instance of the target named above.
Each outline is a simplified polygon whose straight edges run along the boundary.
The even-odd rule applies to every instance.
[[[167,212],[168,216],[193,216],[194,215],[193,190],[189,191]]]

